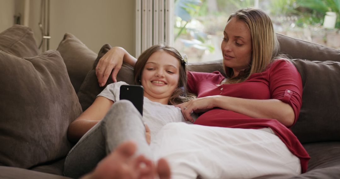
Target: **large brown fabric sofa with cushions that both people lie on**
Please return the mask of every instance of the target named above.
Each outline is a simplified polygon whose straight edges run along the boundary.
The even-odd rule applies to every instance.
[[[302,77],[302,108],[291,130],[311,156],[308,171],[292,178],[338,179],[340,51],[277,38]],[[66,33],[56,50],[40,53],[29,27],[0,33],[0,178],[68,178],[63,166],[74,143],[67,128],[112,83],[99,87],[94,69],[110,48],[105,44],[96,54]],[[223,73],[222,60],[189,63],[188,69]],[[134,84],[133,68],[123,63],[117,79]]]

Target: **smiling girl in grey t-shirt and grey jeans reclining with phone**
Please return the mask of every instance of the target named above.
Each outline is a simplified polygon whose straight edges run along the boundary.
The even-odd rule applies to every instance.
[[[150,47],[138,58],[134,74],[136,82],[144,87],[143,118],[131,102],[119,101],[119,89],[125,82],[107,85],[68,128],[70,140],[81,139],[66,158],[66,176],[78,178],[90,172],[125,140],[136,142],[136,155],[152,158],[148,146],[150,137],[152,140],[167,123],[185,122],[180,108],[174,105],[193,96],[183,90],[186,89],[186,62],[176,49],[163,45]],[[148,124],[146,128],[143,123]],[[145,133],[150,132],[148,126],[151,133],[147,133],[146,138]]]

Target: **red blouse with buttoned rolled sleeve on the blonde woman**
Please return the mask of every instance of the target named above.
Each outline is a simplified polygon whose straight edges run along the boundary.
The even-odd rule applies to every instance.
[[[266,71],[256,73],[249,79],[235,84],[219,85],[225,77],[220,72],[188,72],[188,91],[198,98],[223,95],[245,99],[278,99],[288,103],[294,110],[295,120],[299,117],[302,103],[302,80],[295,66],[286,60],[275,60]],[[275,119],[252,118],[221,108],[213,108],[202,114],[194,122],[199,125],[258,129],[270,127],[287,145],[295,156],[300,158],[302,173],[307,171],[308,153],[296,136]]]

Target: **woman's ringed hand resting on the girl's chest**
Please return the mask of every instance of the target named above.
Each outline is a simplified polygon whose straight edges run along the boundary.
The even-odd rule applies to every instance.
[[[207,96],[202,98],[192,99],[188,102],[177,104],[176,107],[180,107],[184,119],[186,121],[193,122],[193,118],[191,114],[194,113],[204,113],[209,111],[210,109],[216,107],[215,99],[217,96]]]

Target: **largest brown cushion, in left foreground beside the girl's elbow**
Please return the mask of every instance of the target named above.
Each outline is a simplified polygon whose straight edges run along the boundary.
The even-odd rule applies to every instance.
[[[68,125],[81,114],[58,51],[0,52],[0,165],[29,168],[66,156]]]

